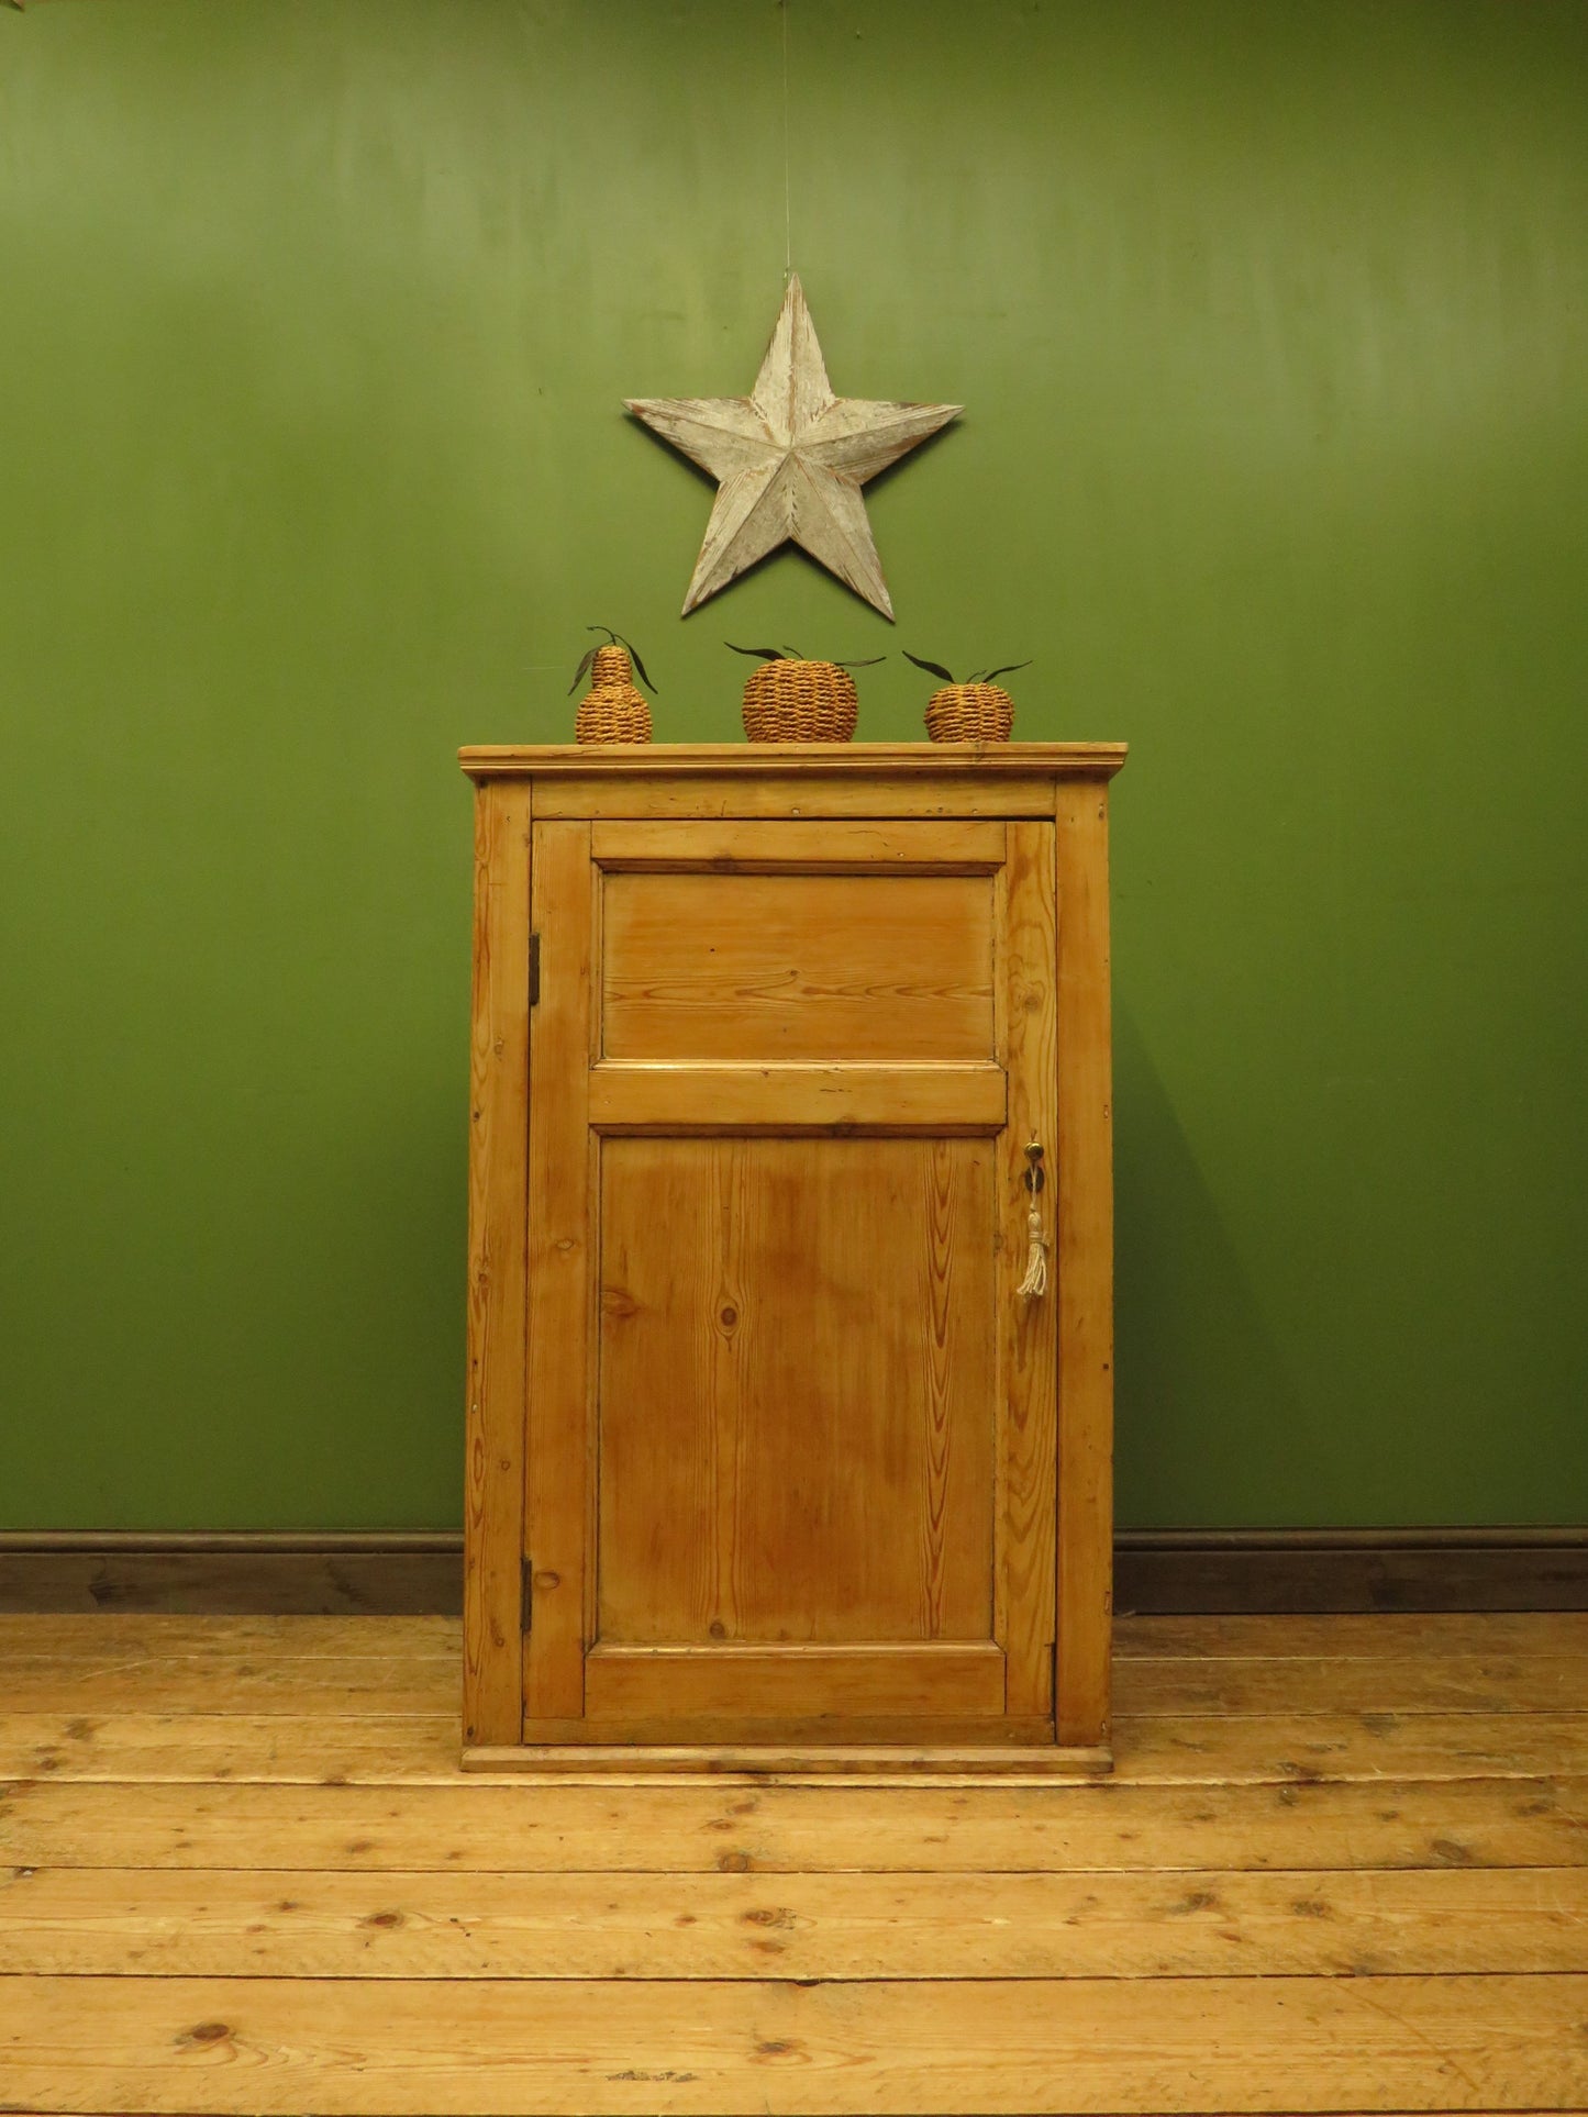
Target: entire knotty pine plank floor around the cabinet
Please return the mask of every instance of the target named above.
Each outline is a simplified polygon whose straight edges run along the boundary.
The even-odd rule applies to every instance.
[[[570,1785],[453,1620],[0,1617],[0,2111],[1588,2111],[1588,1615],[1118,1647],[1107,1783]]]

